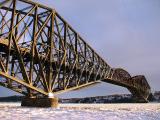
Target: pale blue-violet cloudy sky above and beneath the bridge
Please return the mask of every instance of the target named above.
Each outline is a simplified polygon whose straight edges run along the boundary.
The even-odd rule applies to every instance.
[[[160,90],[160,0],[33,1],[55,8],[112,67],[144,74]],[[64,96],[112,93],[128,91],[105,83]]]

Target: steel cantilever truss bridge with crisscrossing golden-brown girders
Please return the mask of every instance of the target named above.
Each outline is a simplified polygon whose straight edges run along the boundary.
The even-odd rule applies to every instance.
[[[138,66],[137,66],[138,69]],[[47,97],[104,81],[147,102],[150,86],[111,68],[56,12],[28,0],[0,0],[0,85]]]

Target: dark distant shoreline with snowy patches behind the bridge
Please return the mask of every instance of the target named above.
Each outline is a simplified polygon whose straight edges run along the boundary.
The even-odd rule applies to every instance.
[[[24,96],[0,97],[0,102],[21,102],[23,98]],[[150,102],[160,102],[160,91],[152,94]],[[59,103],[134,103],[134,98],[131,94],[115,94],[85,98],[60,98]]]

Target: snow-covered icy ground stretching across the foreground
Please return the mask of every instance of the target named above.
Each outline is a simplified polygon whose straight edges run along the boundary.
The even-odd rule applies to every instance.
[[[54,109],[0,103],[0,120],[160,120],[160,104],[60,104]]]

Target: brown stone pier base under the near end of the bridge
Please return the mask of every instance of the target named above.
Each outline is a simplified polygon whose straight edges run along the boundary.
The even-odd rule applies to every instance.
[[[58,107],[58,98],[23,98],[21,106],[25,107]]]

